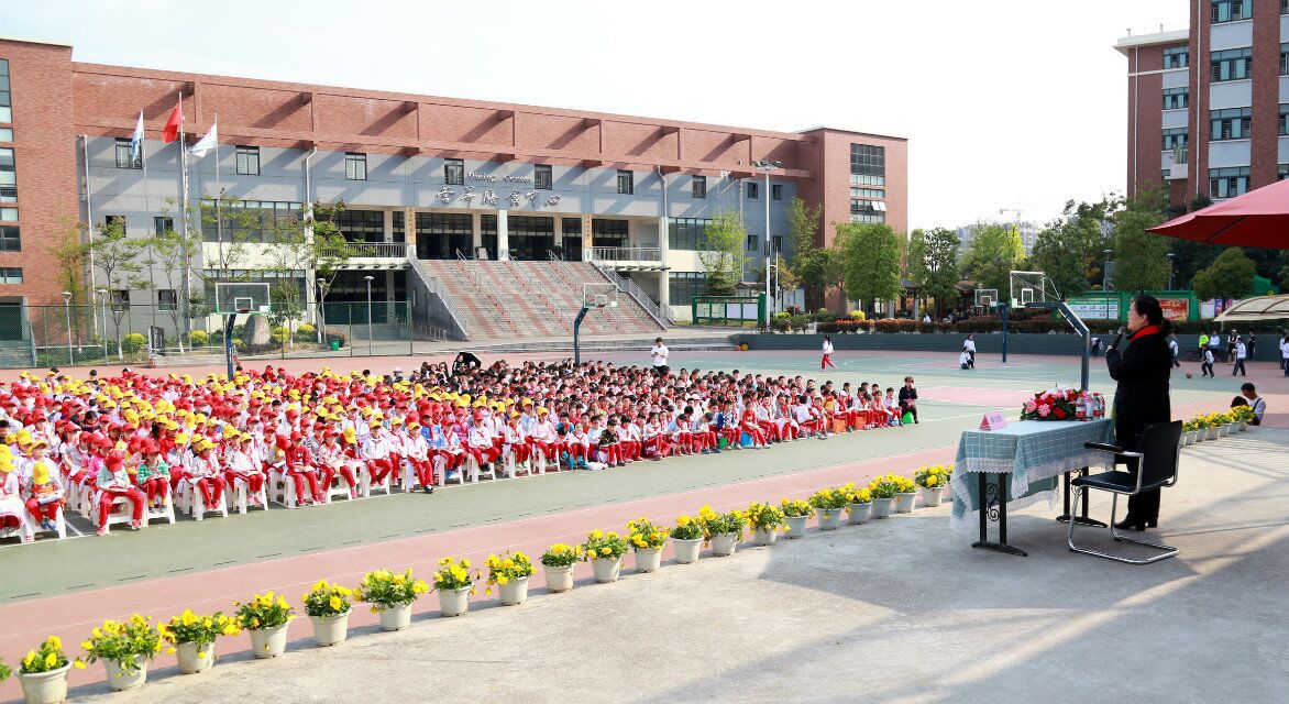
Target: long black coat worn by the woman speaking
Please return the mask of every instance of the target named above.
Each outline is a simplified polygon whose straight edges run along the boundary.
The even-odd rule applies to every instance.
[[[1161,334],[1142,335],[1120,352],[1106,352],[1110,378],[1115,388],[1115,445],[1136,449],[1141,432],[1150,423],[1172,420],[1168,401],[1168,376],[1173,356]]]

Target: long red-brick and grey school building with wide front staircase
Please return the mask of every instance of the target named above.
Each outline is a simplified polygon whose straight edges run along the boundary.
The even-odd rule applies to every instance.
[[[793,197],[822,206],[821,244],[842,222],[907,227],[898,137],[103,66],[72,61],[66,44],[0,37],[0,306],[62,303],[48,242],[66,218],[117,218],[130,236],[165,227],[161,206],[184,193],[179,147],[160,137],[180,94],[188,143],[217,115],[220,138],[218,178],[214,155],[188,162],[189,202],[227,192],[272,217],[345,201],[340,230],[366,250],[327,302],[362,300],[376,272],[376,299],[420,304],[409,279],[427,269],[412,259],[556,254],[616,269],[683,317],[704,293],[697,251],[719,211],[741,213],[753,267],[764,257],[767,200],[776,251]],[[141,110],[147,139],[135,160],[129,139]],[[762,160],[780,162],[768,188],[754,166]],[[222,236],[206,232],[196,268],[218,262]],[[312,272],[289,276],[312,302]],[[169,286],[113,291],[131,304],[175,295]]]

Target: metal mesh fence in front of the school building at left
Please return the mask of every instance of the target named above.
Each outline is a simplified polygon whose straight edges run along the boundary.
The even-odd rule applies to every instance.
[[[205,311],[199,311],[205,312]],[[97,364],[205,364],[224,355],[222,315],[184,320],[170,306],[0,307],[0,367]],[[238,315],[240,360],[410,355],[414,340],[446,339],[414,324],[409,302],[324,302]]]

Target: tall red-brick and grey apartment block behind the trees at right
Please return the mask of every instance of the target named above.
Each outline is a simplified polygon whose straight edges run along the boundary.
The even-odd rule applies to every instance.
[[[1128,193],[1221,201],[1289,175],[1289,0],[1190,0],[1190,28],[1127,36]]]

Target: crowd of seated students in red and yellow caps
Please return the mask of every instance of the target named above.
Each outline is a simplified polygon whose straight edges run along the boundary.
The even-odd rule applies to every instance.
[[[72,500],[99,535],[129,507],[199,512],[237,491],[267,508],[267,482],[298,505],[373,486],[433,493],[485,476],[616,467],[767,447],[916,416],[916,389],[733,370],[496,362],[414,374],[210,374],[72,379],[52,370],[0,386],[0,538],[54,531]]]

